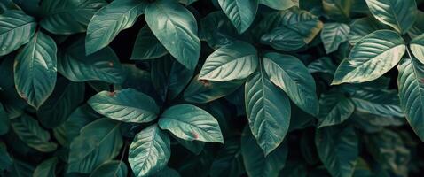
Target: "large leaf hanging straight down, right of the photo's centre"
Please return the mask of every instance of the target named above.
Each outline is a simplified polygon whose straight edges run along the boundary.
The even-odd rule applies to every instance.
[[[263,66],[260,67],[246,82],[245,105],[249,127],[266,156],[287,134],[290,101],[267,78]]]

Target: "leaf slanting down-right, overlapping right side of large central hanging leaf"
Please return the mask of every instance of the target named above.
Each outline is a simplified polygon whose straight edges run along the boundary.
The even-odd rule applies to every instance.
[[[266,53],[263,56],[263,67],[270,81],[283,89],[294,104],[311,115],[318,114],[315,81],[298,58],[275,52]]]

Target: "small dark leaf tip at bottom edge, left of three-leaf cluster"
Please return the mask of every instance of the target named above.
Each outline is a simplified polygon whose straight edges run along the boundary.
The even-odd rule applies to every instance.
[[[118,160],[107,161],[104,164],[98,166],[90,177],[97,176],[114,176],[114,177],[126,177],[128,173],[127,165],[124,162]]]

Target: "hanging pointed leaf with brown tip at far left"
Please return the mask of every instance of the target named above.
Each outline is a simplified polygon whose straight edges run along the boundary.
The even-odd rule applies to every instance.
[[[47,100],[56,84],[57,50],[49,35],[38,32],[16,56],[13,66],[16,90],[35,109]]]

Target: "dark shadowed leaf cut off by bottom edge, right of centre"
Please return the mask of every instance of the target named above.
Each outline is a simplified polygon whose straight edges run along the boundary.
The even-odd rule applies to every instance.
[[[352,176],[359,154],[353,127],[324,127],[317,129],[315,143],[318,156],[332,176]]]

